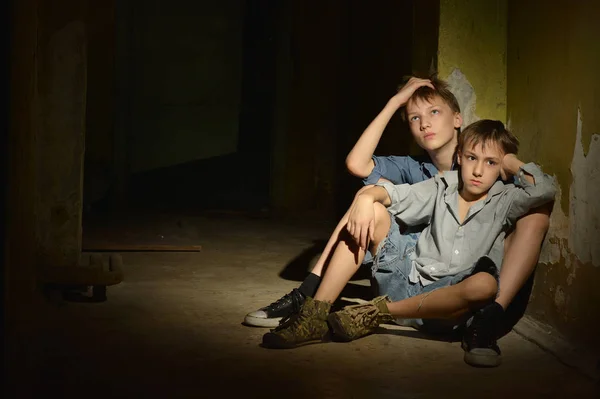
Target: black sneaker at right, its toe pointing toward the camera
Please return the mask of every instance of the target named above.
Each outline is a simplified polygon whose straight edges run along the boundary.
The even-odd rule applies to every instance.
[[[496,309],[500,307],[500,310]],[[496,341],[495,313],[502,307],[494,302],[477,311],[462,340],[465,363],[475,367],[497,367],[502,362],[500,347]]]

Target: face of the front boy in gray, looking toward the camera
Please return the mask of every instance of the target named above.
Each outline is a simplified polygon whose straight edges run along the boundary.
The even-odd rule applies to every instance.
[[[482,199],[500,176],[504,152],[493,142],[485,143],[485,147],[482,143],[473,146],[467,142],[457,155],[463,197],[467,200]]]

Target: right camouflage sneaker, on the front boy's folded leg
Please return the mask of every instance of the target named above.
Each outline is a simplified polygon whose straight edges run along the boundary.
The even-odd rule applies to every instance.
[[[387,308],[390,299],[379,296],[370,302],[346,306],[329,315],[329,325],[334,337],[343,341],[352,341],[375,331],[382,323],[391,323],[394,317]]]

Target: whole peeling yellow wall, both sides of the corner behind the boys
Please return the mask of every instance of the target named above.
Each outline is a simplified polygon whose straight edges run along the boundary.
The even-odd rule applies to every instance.
[[[600,334],[597,15],[598,2],[441,0],[438,48],[464,126],[505,121],[521,142],[519,157],[555,176],[527,314],[588,348],[599,347]]]

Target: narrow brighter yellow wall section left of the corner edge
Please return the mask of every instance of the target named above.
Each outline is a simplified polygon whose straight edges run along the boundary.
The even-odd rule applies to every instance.
[[[464,118],[506,121],[506,0],[441,0],[438,72]]]

